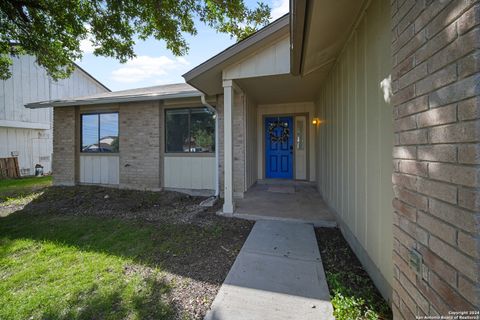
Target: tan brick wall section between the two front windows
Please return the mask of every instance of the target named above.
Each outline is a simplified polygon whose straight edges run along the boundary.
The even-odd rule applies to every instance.
[[[161,189],[163,112],[158,101],[120,105],[120,187]]]

